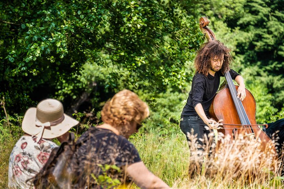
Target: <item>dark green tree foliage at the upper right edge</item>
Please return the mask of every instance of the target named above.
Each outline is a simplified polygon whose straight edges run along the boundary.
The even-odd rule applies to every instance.
[[[261,68],[263,82],[272,93],[272,103],[279,110],[284,105],[284,13],[283,1],[248,1],[245,17],[237,24],[245,35],[245,42],[238,42],[245,63]],[[253,26],[253,28],[252,28]],[[258,73],[259,74],[259,73]]]

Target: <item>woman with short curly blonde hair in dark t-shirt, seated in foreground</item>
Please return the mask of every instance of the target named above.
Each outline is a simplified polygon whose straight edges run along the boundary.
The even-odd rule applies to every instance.
[[[108,188],[132,181],[142,188],[169,188],[146,168],[127,140],[149,116],[147,104],[125,89],[101,113],[104,124],[91,127],[77,141],[80,145],[69,163],[72,188]]]

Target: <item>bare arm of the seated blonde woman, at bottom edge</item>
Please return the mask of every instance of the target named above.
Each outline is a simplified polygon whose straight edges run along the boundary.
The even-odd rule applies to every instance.
[[[151,173],[143,162],[129,165],[127,174],[140,188],[170,188],[163,180]]]

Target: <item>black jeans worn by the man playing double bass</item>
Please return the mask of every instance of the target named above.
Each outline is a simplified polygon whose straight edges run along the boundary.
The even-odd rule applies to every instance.
[[[180,121],[180,128],[181,128],[181,131],[185,134],[187,141],[190,142],[189,144],[191,144],[191,141],[188,137],[188,134],[193,134],[193,135],[197,134],[196,141],[199,144],[198,150],[204,150],[202,147],[204,143],[201,139],[204,139],[204,134],[208,139],[209,138],[208,134],[211,133],[212,131],[208,128],[208,126],[203,122],[203,120],[200,117],[189,116],[189,117],[183,118],[183,120]],[[193,133],[191,131],[192,129],[193,129]]]

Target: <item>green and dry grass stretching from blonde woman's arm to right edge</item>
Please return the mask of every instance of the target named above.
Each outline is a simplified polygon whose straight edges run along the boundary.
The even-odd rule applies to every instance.
[[[220,134],[223,147],[213,153],[213,135],[204,141],[204,151],[198,151],[193,135],[189,150],[179,133],[144,133],[132,142],[146,166],[173,188],[284,188],[282,162],[271,148],[263,151],[255,139],[239,136],[229,141]]]

